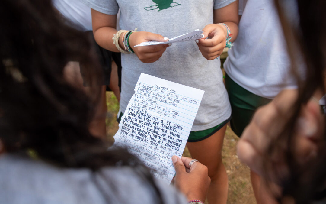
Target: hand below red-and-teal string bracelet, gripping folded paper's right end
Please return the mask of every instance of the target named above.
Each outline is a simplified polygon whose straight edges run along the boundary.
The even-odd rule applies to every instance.
[[[198,42],[196,40],[199,50],[206,59],[215,59],[222,54],[225,48],[227,29],[222,24],[208,24],[203,31],[204,37]],[[207,37],[208,39],[206,39]]]

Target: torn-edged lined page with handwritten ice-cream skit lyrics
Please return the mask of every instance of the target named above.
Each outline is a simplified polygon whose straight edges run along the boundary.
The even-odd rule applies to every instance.
[[[171,157],[181,158],[203,90],[142,73],[114,135],[114,145],[126,147],[170,183]]]

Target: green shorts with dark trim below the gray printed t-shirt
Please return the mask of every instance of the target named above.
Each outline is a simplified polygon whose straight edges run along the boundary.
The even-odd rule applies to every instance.
[[[123,116],[122,113],[120,113],[119,118],[117,118],[117,121],[120,123],[121,117]],[[212,127],[207,130],[201,130],[201,131],[191,131],[188,137],[187,142],[198,142],[201,140],[204,140],[210,136],[212,136],[214,133],[219,131],[224,125],[226,125],[230,121],[231,117],[227,120],[223,121],[222,123],[216,125],[215,127]]]

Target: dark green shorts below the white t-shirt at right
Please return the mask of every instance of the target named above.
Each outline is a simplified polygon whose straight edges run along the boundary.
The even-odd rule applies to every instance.
[[[272,100],[251,93],[235,83],[228,75],[225,77],[225,86],[232,108],[231,129],[240,137],[256,109]]]

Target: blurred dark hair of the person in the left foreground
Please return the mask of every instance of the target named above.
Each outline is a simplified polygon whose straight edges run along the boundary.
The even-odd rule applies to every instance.
[[[51,0],[2,0],[0,25],[0,139],[6,151],[28,156],[33,150],[53,165],[93,171],[131,166],[160,200],[139,159],[108,150],[89,133],[99,90],[90,97],[64,78],[67,62],[79,61],[89,67],[89,85],[98,84],[101,68],[85,34],[64,24]]]

